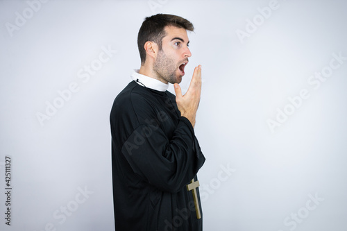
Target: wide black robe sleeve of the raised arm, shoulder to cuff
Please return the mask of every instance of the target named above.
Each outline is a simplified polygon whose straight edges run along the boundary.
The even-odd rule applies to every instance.
[[[191,123],[185,117],[173,121],[172,108],[163,108],[161,101],[153,103],[135,92],[129,99],[116,105],[117,121],[113,121],[123,138],[121,153],[134,173],[151,185],[179,191],[205,161]]]

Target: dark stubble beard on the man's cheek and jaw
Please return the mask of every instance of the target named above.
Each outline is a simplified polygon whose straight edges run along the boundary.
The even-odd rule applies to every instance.
[[[161,80],[169,83],[180,83],[182,76],[176,77],[176,65],[173,59],[168,58],[164,51],[158,51],[157,60],[155,60],[153,71]]]

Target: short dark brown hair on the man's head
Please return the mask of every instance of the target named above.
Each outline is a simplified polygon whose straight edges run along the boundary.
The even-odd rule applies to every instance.
[[[187,31],[194,31],[193,24],[183,17],[164,14],[146,17],[137,35],[137,46],[139,47],[141,64],[144,64],[146,61],[144,44],[147,41],[155,42],[158,44],[159,49],[162,49],[162,38],[166,35],[164,31],[165,26],[176,26],[178,28],[185,28]]]

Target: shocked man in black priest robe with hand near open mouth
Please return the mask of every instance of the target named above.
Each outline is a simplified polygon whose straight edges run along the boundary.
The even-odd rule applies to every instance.
[[[116,230],[202,230],[196,173],[205,157],[194,135],[201,66],[184,96],[178,85],[192,55],[187,30],[186,19],[161,14],[139,29],[141,68],[110,114]]]

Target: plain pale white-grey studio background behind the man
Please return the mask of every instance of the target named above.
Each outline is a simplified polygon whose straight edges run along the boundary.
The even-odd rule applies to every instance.
[[[196,28],[180,85],[187,89],[203,66],[195,130],[206,157],[198,173],[204,230],[346,230],[346,58],[332,61],[339,67],[319,87],[307,82],[329,70],[333,53],[347,57],[346,1],[28,2],[0,1],[1,230],[114,229],[110,108],[139,68],[139,27],[158,12]],[[265,18],[269,4],[276,10]],[[99,55],[108,61],[79,78]],[[78,91],[40,124],[37,113],[71,83]],[[309,97],[298,100],[302,89]]]

